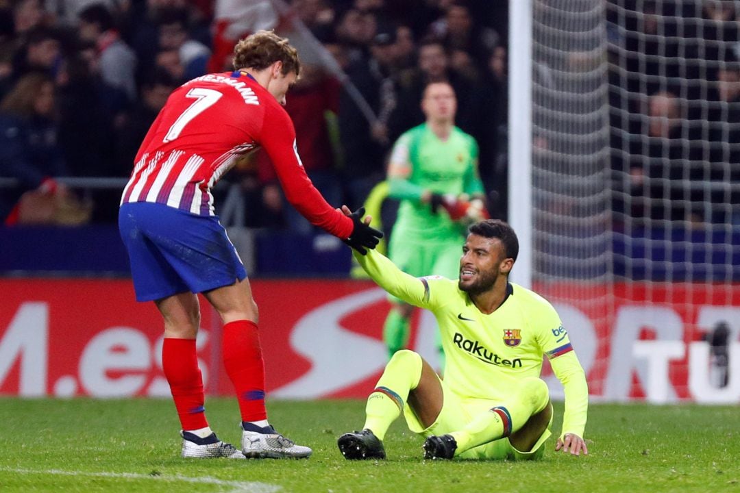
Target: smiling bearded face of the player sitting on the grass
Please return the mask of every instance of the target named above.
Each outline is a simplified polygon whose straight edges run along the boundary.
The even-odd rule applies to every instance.
[[[506,257],[498,238],[468,234],[460,257],[460,279],[457,287],[472,296],[494,287],[499,276],[506,276],[514,259]]]

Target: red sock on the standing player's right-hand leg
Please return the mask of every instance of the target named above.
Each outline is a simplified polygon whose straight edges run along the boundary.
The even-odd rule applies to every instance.
[[[267,419],[265,364],[257,324],[237,320],[223,326],[223,366],[234,384],[242,421]]]

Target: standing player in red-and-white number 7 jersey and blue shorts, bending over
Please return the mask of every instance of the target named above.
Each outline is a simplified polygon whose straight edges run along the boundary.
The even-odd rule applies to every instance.
[[[288,40],[260,31],[235,47],[233,72],[203,75],[169,96],[135,158],[118,216],[138,301],[164,318],[162,366],[181,421],[183,457],[305,458],[267,421],[258,309],[246,270],[218,221],[211,189],[258,147],[274,163],[287,200],[312,224],[360,252],[383,236],[362,209],[343,214],[309,180],[283,109],[300,72]],[[206,421],[195,338],[203,293],[223,321],[223,364],[238,398],[241,449]]]

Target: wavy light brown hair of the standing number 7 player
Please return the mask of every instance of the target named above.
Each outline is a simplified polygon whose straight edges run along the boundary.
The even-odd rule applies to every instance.
[[[283,62],[283,75],[299,75],[298,52],[286,38],[273,31],[260,30],[239,41],[234,47],[234,69],[266,69],[276,61]]]

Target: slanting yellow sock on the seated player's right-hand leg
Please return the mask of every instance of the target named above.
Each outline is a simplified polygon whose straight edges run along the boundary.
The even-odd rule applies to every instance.
[[[508,437],[524,426],[531,415],[545,409],[549,401],[548,385],[544,380],[524,378],[518,390],[502,405],[480,413],[463,429],[450,433],[457,442],[455,455],[483,443]]]

